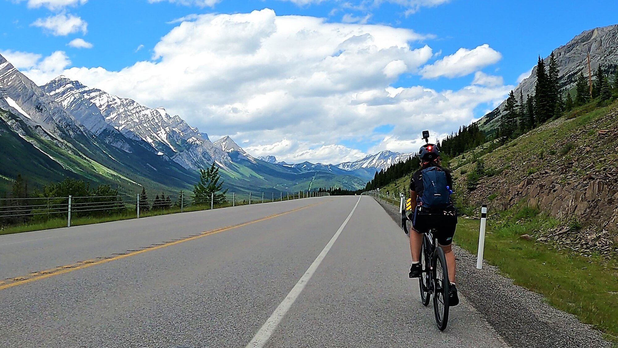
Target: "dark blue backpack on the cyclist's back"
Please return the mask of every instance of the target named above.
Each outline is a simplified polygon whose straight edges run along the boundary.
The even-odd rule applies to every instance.
[[[447,189],[446,172],[439,167],[421,171],[423,195],[418,197],[419,205],[428,209],[442,209],[451,205],[451,192]]]

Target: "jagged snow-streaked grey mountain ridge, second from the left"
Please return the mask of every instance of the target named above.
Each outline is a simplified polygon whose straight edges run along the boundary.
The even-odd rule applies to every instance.
[[[80,115],[93,132],[104,127],[94,108],[127,137],[144,140],[158,155],[167,155],[187,169],[210,166],[213,161],[226,166],[227,153],[208,140],[208,135],[190,127],[179,116],[170,116],[164,108],[150,109],[128,98],[89,88],[64,76],[43,86],[49,96],[67,111]]]

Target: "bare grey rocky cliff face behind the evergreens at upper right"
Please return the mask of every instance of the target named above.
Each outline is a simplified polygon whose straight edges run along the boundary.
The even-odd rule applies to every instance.
[[[577,35],[566,45],[554,50],[554,56],[559,66],[560,85],[564,91],[575,85],[577,75],[580,72],[588,76],[588,62],[586,55],[590,54],[591,70],[595,70],[601,64],[602,69],[611,69],[618,64],[618,24],[608,27],[599,27]],[[549,64],[549,56],[544,61]],[[530,65],[535,64],[534,57],[530,57]],[[523,92],[523,96],[533,95],[536,85],[536,67],[532,74],[524,79],[515,88],[515,96]],[[506,106],[502,102],[498,108],[484,116],[479,122],[482,129],[490,130],[498,126],[498,119]]]

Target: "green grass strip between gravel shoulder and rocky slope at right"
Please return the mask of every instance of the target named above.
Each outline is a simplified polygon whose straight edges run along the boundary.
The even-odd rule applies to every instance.
[[[559,223],[537,213],[506,211],[488,219],[485,260],[515,284],[544,295],[549,305],[577,316],[618,346],[618,261],[586,258],[521,239],[530,231]],[[476,255],[479,227],[478,220],[460,219],[455,244]]]

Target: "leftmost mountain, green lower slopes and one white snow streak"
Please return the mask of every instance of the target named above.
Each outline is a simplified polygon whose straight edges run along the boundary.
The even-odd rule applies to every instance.
[[[0,163],[4,179],[23,174],[41,184],[84,177],[114,185],[149,180],[176,187],[195,179],[195,172],[101,123],[96,109],[86,116],[87,109],[81,105],[78,110],[83,114],[76,117],[0,56],[0,148],[6,150],[0,151]],[[80,119],[91,121],[88,126],[93,130]]]

